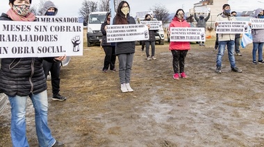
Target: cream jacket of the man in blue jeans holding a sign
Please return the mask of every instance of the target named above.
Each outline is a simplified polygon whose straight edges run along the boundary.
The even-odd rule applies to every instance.
[[[216,22],[217,21],[236,21],[236,17],[233,17],[231,15],[224,15],[224,13],[222,13],[221,15],[217,15],[216,17]],[[218,34],[218,41],[229,41],[229,40],[235,40],[236,38],[236,34]]]

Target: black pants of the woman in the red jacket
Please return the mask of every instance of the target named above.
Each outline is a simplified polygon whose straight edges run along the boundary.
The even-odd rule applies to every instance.
[[[174,74],[178,73],[179,74],[179,69],[180,73],[184,72],[184,62],[185,62],[185,57],[188,53],[188,50],[172,50],[172,67]]]

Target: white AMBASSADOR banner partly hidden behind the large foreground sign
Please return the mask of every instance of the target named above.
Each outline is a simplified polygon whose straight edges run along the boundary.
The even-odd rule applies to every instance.
[[[37,16],[36,21],[40,22],[68,22],[79,23],[78,17],[57,17],[57,16]]]

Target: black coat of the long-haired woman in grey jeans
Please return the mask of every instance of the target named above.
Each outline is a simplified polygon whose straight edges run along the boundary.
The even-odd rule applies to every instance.
[[[115,17],[116,18],[116,17]],[[115,18],[113,19],[113,24],[115,24]],[[129,14],[126,15],[128,24],[135,24],[135,19]],[[133,42],[117,42],[115,46],[115,55],[135,53],[135,41]]]

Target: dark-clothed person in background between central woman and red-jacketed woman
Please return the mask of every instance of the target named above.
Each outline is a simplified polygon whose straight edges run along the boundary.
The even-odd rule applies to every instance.
[[[145,21],[151,21],[151,15],[145,15]],[[145,40],[147,60],[156,60],[155,58],[155,37],[156,31],[149,30],[149,40]],[[151,45],[151,56],[149,55],[149,45]]]

